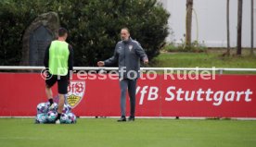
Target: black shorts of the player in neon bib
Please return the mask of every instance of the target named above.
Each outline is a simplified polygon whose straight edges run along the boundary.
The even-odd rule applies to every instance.
[[[67,94],[69,86],[69,76],[57,76],[57,75],[48,75],[45,80],[46,87],[51,88],[53,85],[58,82],[58,93]]]

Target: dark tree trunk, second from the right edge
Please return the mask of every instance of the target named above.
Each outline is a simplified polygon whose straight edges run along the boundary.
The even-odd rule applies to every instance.
[[[242,15],[243,15],[243,0],[238,0],[237,8],[237,55],[242,54]]]

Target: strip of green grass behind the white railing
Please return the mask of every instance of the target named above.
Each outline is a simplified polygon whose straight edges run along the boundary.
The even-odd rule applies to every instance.
[[[221,53],[161,53],[150,67],[234,67],[256,68],[256,56],[242,55],[223,57]],[[255,72],[225,72],[247,73]]]

